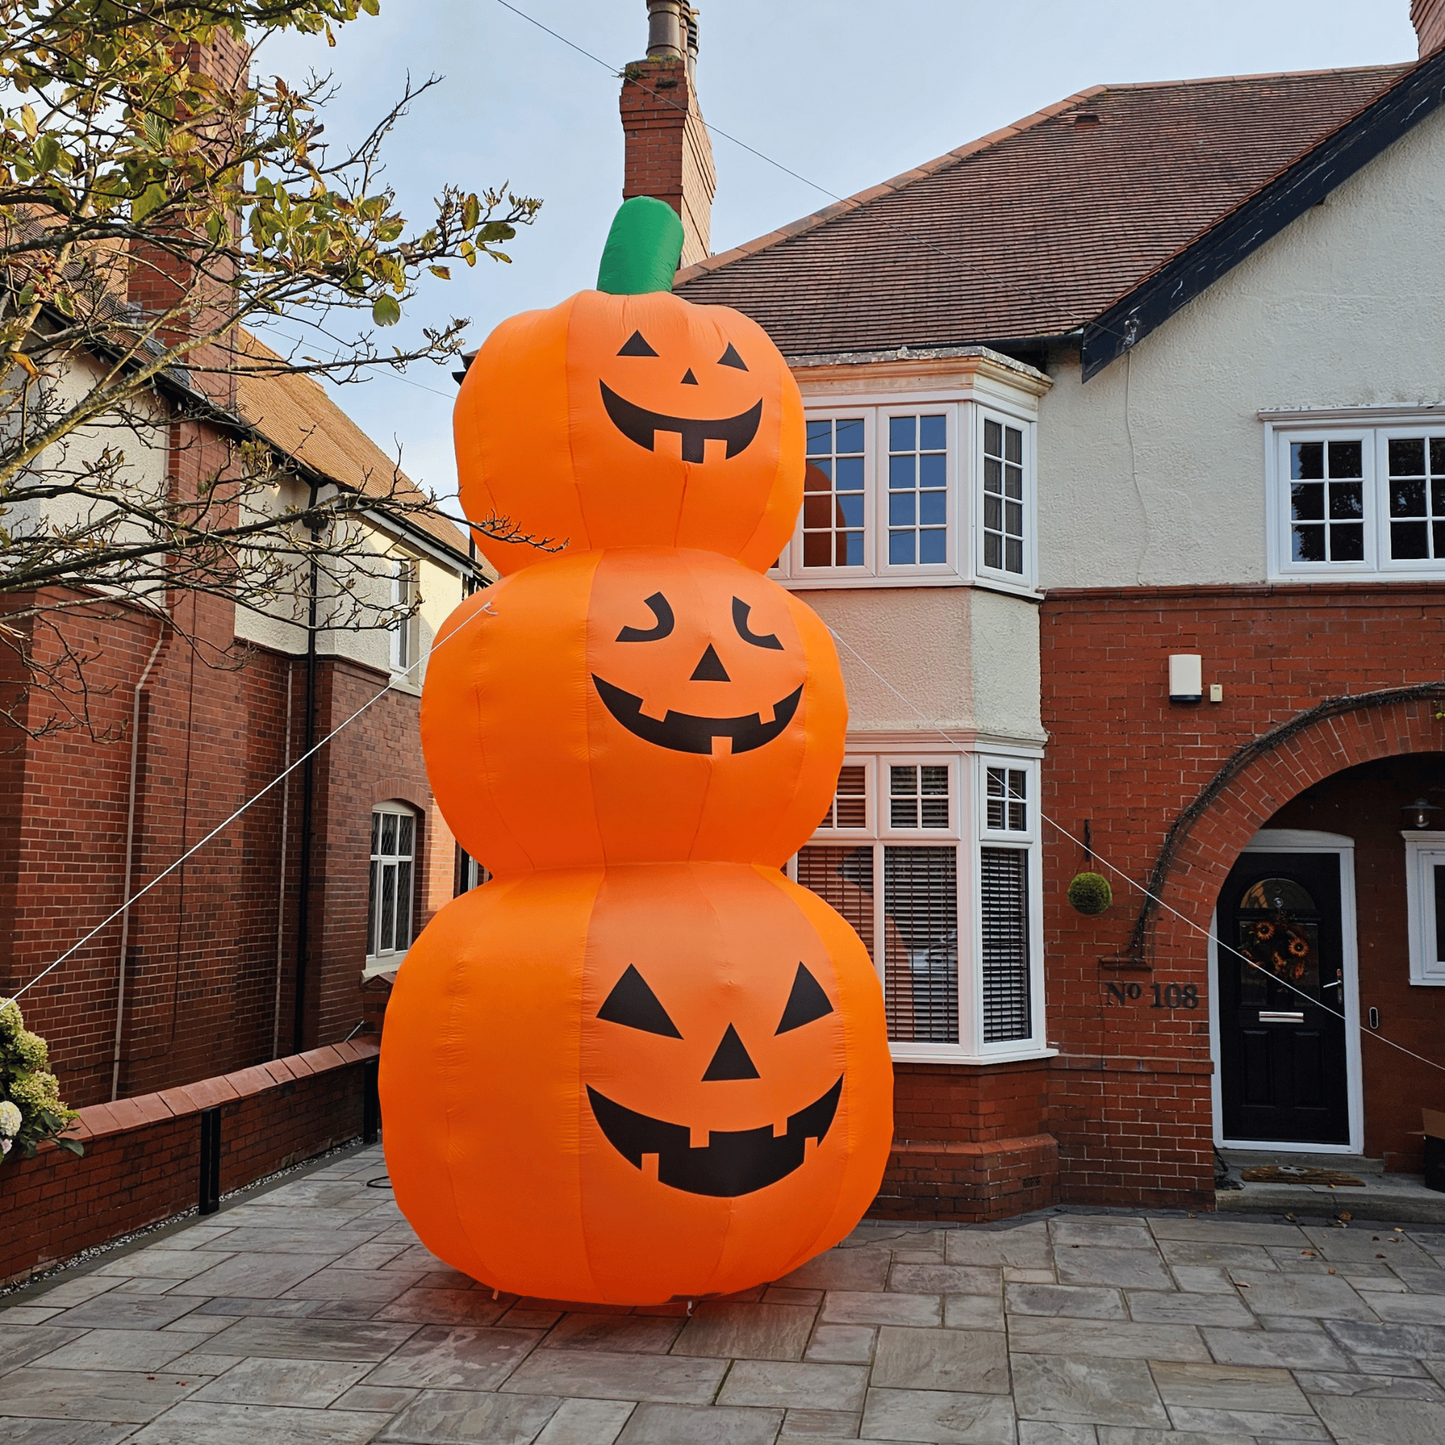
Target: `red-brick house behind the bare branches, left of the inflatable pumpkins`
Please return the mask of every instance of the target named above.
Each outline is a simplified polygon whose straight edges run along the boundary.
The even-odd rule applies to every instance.
[[[254,337],[241,344],[253,360],[275,357]],[[431,639],[481,579],[468,543],[435,510],[384,506],[422,494],[316,381],[262,367],[228,383],[221,407],[198,410],[185,377],[165,379],[152,444],[127,454],[130,481],[163,491],[194,483],[227,445],[269,448],[280,490],[301,500],[334,488],[377,499],[363,520],[376,566],[355,597],[373,614],[416,607],[390,629],[357,630],[351,598],[325,579],[315,626],[283,597],[257,610],[224,592],[117,600],[91,588],[38,634],[87,656],[105,740],[36,727],[7,728],[0,744],[0,996],[159,879],[25,996],[77,1107],[348,1038],[363,977],[394,968],[457,890],[418,712]],[[49,701],[32,692],[22,708],[40,718]]]

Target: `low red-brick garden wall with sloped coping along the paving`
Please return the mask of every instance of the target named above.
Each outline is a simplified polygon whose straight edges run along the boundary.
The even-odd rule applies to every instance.
[[[48,1144],[0,1168],[0,1283],[194,1208],[201,1111],[221,1108],[221,1192],[361,1131],[374,1039],[81,1110],[85,1155]]]

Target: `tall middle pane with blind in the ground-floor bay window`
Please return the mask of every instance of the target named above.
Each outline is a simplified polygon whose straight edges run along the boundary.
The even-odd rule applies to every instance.
[[[883,993],[890,1039],[958,1042],[955,848],[883,850]]]

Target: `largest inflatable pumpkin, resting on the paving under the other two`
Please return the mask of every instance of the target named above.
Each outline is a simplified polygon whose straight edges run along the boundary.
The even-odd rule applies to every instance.
[[[509,1293],[731,1293],[841,1240],[893,1072],[857,933],[772,868],[493,880],[412,945],[381,1114],[422,1243]]]

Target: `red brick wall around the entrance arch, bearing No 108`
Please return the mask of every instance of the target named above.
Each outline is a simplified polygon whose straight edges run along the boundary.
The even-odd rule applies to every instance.
[[[1244,743],[1321,699],[1438,678],[1445,608],[1416,585],[1059,591],[1040,626],[1043,811],[1075,838],[1088,822],[1097,853],[1143,881],[1172,821]],[[1169,704],[1173,652],[1202,655],[1205,686],[1221,683],[1222,704]],[[1194,1207],[1205,1198],[1212,1111],[1201,931],[1230,867],[1257,828],[1321,779],[1442,746],[1445,727],[1420,704],[1332,720],[1263,759],[1186,840],[1163,893],[1186,922],[1162,915],[1137,967],[1118,955],[1140,894],[1114,877],[1114,906],[1077,915],[1064,893],[1088,860],[1045,828],[1049,1036],[1064,1055],[1051,1117],[1064,1199]],[[1120,1003],[1110,983],[1139,993]],[[1152,1007],[1156,983],[1192,985],[1198,1007]],[[1090,1062],[1116,1059],[1140,1062],[1103,1072]]]

